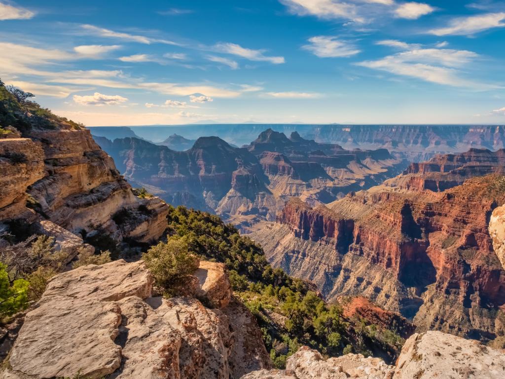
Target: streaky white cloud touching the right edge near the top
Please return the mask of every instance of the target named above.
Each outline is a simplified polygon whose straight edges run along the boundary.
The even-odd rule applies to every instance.
[[[434,35],[472,35],[491,28],[505,27],[505,13],[487,13],[483,15],[452,19],[444,28],[429,31]]]

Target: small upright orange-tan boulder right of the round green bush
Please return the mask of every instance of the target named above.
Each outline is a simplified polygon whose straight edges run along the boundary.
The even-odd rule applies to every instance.
[[[200,261],[193,275],[198,278],[197,298],[209,302],[214,308],[225,308],[228,305],[231,285],[223,263]]]

